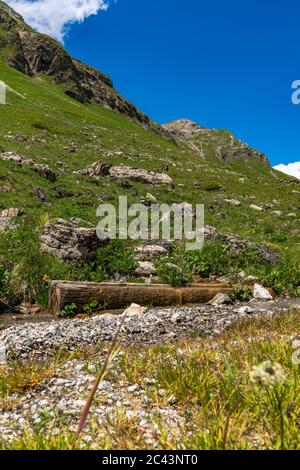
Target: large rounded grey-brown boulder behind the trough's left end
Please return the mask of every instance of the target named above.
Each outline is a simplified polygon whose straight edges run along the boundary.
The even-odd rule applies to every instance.
[[[62,261],[84,263],[93,258],[103,239],[97,237],[95,229],[78,227],[76,221],[58,219],[47,223],[40,236],[41,251],[47,252]]]

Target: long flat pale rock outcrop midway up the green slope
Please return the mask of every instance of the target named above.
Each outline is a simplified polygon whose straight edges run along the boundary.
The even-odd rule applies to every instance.
[[[84,170],[76,172],[90,177],[110,176],[116,180],[132,179],[141,183],[173,186],[170,176],[155,171],[147,171],[142,168],[131,168],[129,166],[112,166],[106,162],[95,162]]]

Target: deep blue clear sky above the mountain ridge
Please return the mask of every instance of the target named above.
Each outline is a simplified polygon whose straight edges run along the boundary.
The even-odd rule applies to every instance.
[[[50,12],[57,3],[38,2]],[[30,2],[8,3],[22,10]],[[291,101],[300,80],[299,1],[118,0],[106,11],[100,0],[84,3],[102,10],[68,26],[66,49],[108,73],[153,119],[230,129],[273,165],[300,161],[300,105]]]

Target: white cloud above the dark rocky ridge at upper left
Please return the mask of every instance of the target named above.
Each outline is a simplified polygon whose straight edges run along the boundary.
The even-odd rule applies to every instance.
[[[100,10],[106,0],[5,0],[25,21],[40,33],[63,42],[71,23],[82,22]]]

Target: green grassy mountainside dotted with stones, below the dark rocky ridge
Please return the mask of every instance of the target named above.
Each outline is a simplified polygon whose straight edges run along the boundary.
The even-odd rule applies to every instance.
[[[0,149],[48,163],[60,173],[57,183],[53,184],[30,168],[0,161],[0,188],[11,189],[11,192],[0,193],[0,209],[24,209],[30,230],[54,217],[80,217],[95,223],[99,199],[116,202],[119,194],[126,194],[129,202],[137,202],[146,192],[151,192],[160,202],[204,203],[206,223],[250,236],[288,258],[299,258],[299,194],[292,192],[297,187],[280,183],[282,175],[271,171],[267,165],[254,160],[226,163],[212,157],[210,151],[204,160],[200,159],[184,146],[176,146],[124,116],[73,101],[47,78],[29,78],[3,62],[0,62],[0,79],[14,90],[8,93],[8,104],[0,108]],[[20,132],[28,140],[19,142],[8,137],[9,133]],[[65,147],[73,144],[78,151],[70,153]],[[107,151],[121,151],[122,155],[107,156]],[[168,163],[176,188],[171,191],[133,183],[133,188],[125,190],[105,177],[96,185],[85,177],[73,175],[74,170],[96,160],[157,171]],[[64,173],[59,162],[65,165]],[[245,178],[244,183],[240,182],[241,177]],[[193,188],[195,181],[202,183],[201,189]],[[226,193],[209,191],[215,184],[222,185]],[[46,193],[51,206],[34,198],[34,187]],[[58,188],[73,193],[73,197],[58,197]],[[242,207],[228,205],[224,202],[226,197],[239,199]],[[265,203],[273,203],[273,210],[282,210],[284,215],[278,217],[271,211],[258,213],[249,209],[250,204]],[[295,212],[297,218],[287,217],[289,212]],[[1,235],[0,256],[13,263],[19,261],[25,240],[28,241],[27,235],[19,236],[18,232]]]

